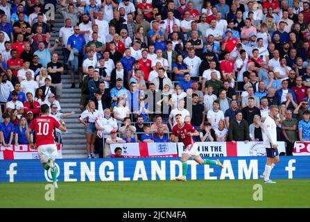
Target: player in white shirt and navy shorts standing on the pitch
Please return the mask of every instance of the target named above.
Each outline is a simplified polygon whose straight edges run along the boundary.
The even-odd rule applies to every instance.
[[[277,125],[275,119],[279,108],[277,105],[271,105],[268,117],[264,121],[263,139],[264,146],[266,147],[267,162],[265,171],[261,174],[261,178],[264,178],[265,183],[276,183],[269,179],[271,170],[275,167],[275,164],[279,162],[279,152],[277,151]]]

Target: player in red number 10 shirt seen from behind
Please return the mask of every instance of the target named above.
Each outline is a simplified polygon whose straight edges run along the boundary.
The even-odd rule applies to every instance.
[[[49,117],[49,105],[43,104],[40,109],[42,116],[33,120],[28,130],[26,130],[26,137],[31,148],[34,148],[34,144],[31,143],[30,133],[32,130],[35,130],[35,144],[37,146],[37,153],[39,154],[40,161],[46,171],[51,168],[53,185],[55,188],[58,188],[57,168],[55,167],[55,157],[58,153],[54,141],[54,127],[62,130],[62,132],[66,132],[67,128],[60,125],[54,117]]]

